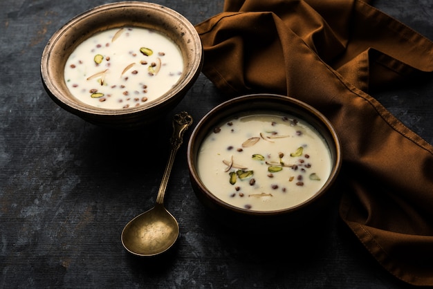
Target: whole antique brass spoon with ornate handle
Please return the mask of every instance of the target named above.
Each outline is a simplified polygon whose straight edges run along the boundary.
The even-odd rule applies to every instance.
[[[122,231],[122,244],[132,254],[145,257],[163,253],[171,248],[178,238],[179,224],[165,209],[163,202],[176,152],[182,145],[183,133],[191,124],[192,116],[185,111],[174,115],[174,131],[170,138],[172,149],[156,197],[156,204],[149,211],[129,221]]]

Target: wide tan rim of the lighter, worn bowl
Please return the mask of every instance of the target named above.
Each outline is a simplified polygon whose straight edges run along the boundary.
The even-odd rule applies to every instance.
[[[55,82],[54,73],[52,71],[52,68],[50,68],[51,54],[53,53],[53,50],[55,50],[56,44],[62,39],[62,37],[66,37],[65,35],[67,35],[67,32],[71,30],[71,28],[76,24],[80,24],[84,21],[89,21],[89,19],[92,19],[92,17],[96,17],[100,12],[107,12],[111,10],[120,11],[126,8],[129,9],[138,8],[138,9],[142,9],[143,11],[153,10],[155,12],[166,15],[167,17],[176,20],[178,23],[181,23],[183,25],[183,28],[185,28],[185,31],[187,31],[187,33],[192,35],[192,39],[195,39],[195,41],[192,42],[194,44],[194,51],[196,51],[197,55],[196,57],[194,57],[194,59],[192,59],[190,71],[187,71],[185,73],[185,76],[181,77],[181,79],[178,80],[174,88],[170,89],[169,91],[167,91],[160,97],[156,98],[155,100],[152,100],[147,104],[142,104],[140,106],[132,106],[126,109],[99,108],[96,106],[91,106],[89,104],[84,104],[80,102],[80,100],[74,101],[73,99],[75,97],[73,97],[72,94],[71,97],[66,97],[62,92],[62,89],[59,88],[59,86],[57,86]],[[91,37],[91,35],[89,37]],[[67,108],[67,110],[70,111],[72,110],[73,113],[79,115],[82,115],[84,113],[85,115],[122,116],[122,115],[129,115],[131,113],[146,111],[149,109],[156,109],[156,106],[160,106],[161,104],[164,104],[167,101],[170,102],[170,100],[174,98],[174,96],[181,94],[183,89],[190,86],[190,82],[193,82],[201,72],[201,67],[203,66],[203,57],[204,57],[203,46],[201,44],[201,40],[198,35],[198,32],[194,28],[194,25],[186,17],[181,15],[179,12],[173,10],[172,8],[168,8],[166,6],[156,4],[156,3],[140,2],[140,1],[119,1],[119,2],[102,4],[100,6],[95,6],[94,8],[91,8],[78,15],[75,15],[75,17],[68,20],[62,27],[56,30],[48,40],[42,52],[40,73],[42,76],[42,82],[46,90],[49,91],[48,94],[50,95],[50,97],[53,98],[53,100],[55,100],[55,102],[57,102],[57,104],[59,104],[60,106]]]

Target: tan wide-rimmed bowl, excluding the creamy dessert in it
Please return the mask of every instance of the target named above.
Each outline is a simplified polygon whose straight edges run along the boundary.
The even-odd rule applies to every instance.
[[[80,102],[66,87],[66,60],[82,41],[95,33],[125,26],[154,29],[172,39],[183,56],[180,79],[157,100],[138,107],[101,109]],[[158,120],[181,102],[201,72],[202,50],[194,26],[178,12],[155,3],[109,3],[77,15],[55,32],[42,53],[42,82],[48,95],[66,111],[103,127],[136,129]]]

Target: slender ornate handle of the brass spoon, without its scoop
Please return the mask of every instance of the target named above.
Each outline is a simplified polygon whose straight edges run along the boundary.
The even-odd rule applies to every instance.
[[[181,113],[177,113],[176,115],[174,115],[173,135],[170,138],[170,145],[172,145],[172,149],[170,151],[170,155],[167,161],[167,166],[165,167],[163,179],[161,180],[158,196],[156,197],[156,203],[160,205],[163,205],[165,189],[167,188],[170,172],[172,171],[174,158],[176,157],[176,153],[183,142],[183,133],[185,133],[185,131],[188,129],[188,127],[190,127],[191,124],[192,116],[189,115],[186,111],[182,111]]]

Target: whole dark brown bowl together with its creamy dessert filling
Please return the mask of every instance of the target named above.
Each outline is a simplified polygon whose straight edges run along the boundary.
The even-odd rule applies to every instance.
[[[252,121],[264,114],[280,116]],[[301,122],[313,127],[327,152],[316,153],[313,133]],[[284,145],[275,147],[277,140]],[[327,173],[319,170],[322,159]],[[291,97],[258,94],[234,98],[205,115],[192,132],[187,162],[194,192],[214,218],[264,232],[315,218],[335,196],[342,156],[338,135],[322,113]],[[309,195],[300,196],[304,192]]]

